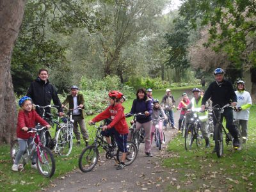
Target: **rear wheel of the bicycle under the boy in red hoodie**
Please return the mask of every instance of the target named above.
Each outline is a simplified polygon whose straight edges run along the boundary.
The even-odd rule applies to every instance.
[[[136,144],[133,143],[132,141],[127,141],[126,147],[127,147],[127,154],[125,158],[125,164],[129,165],[129,164],[132,164],[133,161],[136,159],[138,150],[137,150]],[[118,148],[116,152],[117,161],[121,162],[122,155],[123,155],[123,152],[121,152]]]

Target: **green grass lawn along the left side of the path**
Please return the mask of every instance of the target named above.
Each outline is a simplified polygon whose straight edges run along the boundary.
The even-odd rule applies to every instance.
[[[191,87],[172,88],[172,93],[176,100],[184,92],[184,89],[191,90]],[[153,92],[153,97],[161,100],[164,93],[165,90],[156,90]],[[129,99],[124,102],[125,113],[128,113],[131,110],[132,100],[133,99]],[[179,100],[177,100],[177,102],[179,102]],[[86,122],[88,122],[88,120],[90,119],[92,119],[92,116],[86,116]],[[127,121],[129,121],[130,119],[131,118],[128,118]],[[91,136],[93,127],[87,125],[87,129],[89,129]],[[81,143],[81,146],[77,146],[76,140],[74,140],[74,145],[70,156],[60,157],[56,154],[54,156],[56,161],[56,172],[51,179],[46,179],[42,177],[37,172],[37,170],[31,169],[30,164],[26,164],[23,172],[12,172],[10,145],[2,145],[0,147],[0,188],[3,191],[38,191],[44,188],[45,186],[51,184],[52,179],[55,179],[56,177],[61,177],[61,175],[65,175],[65,173],[77,168],[78,158],[81,150],[83,149],[83,146],[84,143]]]

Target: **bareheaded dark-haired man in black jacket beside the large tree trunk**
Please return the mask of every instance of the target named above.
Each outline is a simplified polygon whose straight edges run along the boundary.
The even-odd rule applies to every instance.
[[[64,113],[61,109],[61,102],[57,95],[55,88],[48,80],[48,71],[46,69],[40,69],[38,77],[30,84],[27,92],[27,96],[31,97],[33,103],[39,106],[47,106],[51,104],[51,100],[55,106],[59,106],[58,113],[63,116]],[[36,112],[42,116],[42,109],[36,108]],[[45,108],[45,113],[51,113],[51,108]],[[45,114],[47,117],[47,114]]]

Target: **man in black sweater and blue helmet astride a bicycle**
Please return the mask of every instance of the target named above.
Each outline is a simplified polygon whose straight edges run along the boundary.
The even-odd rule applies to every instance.
[[[232,84],[224,79],[224,70],[222,68],[216,68],[214,70],[215,80],[209,85],[209,88],[206,90],[203,100],[202,100],[202,111],[205,110],[205,102],[211,98],[212,106],[216,106],[217,104],[222,108],[225,104],[230,104],[232,106],[236,106],[237,104],[237,97]],[[218,113],[214,113],[215,116],[214,126],[216,125],[216,119],[218,118]],[[225,116],[227,120],[227,129],[230,134],[234,138],[233,145],[234,147],[240,147],[239,140],[237,138],[237,130],[233,124],[233,111],[232,108],[225,108],[223,115],[221,115],[221,119]]]

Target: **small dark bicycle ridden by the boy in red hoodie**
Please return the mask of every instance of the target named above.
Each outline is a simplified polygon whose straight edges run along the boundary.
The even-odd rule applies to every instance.
[[[79,156],[79,168],[82,172],[90,172],[98,163],[99,147],[102,147],[106,151],[106,159],[114,158],[116,163],[120,163],[120,160],[122,159],[122,152],[119,150],[119,148],[115,150],[116,142],[114,142],[115,145],[113,145],[113,147],[109,148],[109,144],[104,140],[104,136],[100,134],[102,126],[97,127],[95,124],[91,125],[94,125],[96,128],[96,136],[93,144],[84,148]],[[125,165],[132,164],[136,159],[137,154],[138,150],[135,143],[132,141],[127,141],[127,156],[125,159]]]

